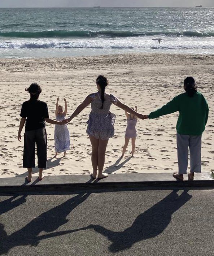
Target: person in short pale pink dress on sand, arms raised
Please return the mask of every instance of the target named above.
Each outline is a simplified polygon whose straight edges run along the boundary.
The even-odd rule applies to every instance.
[[[134,108],[132,108],[134,110]],[[137,112],[137,106],[135,105],[135,111]],[[134,152],[135,152],[135,140],[137,136],[137,131],[136,131],[136,123],[137,123],[137,116],[134,114],[128,114],[126,111],[126,117],[127,117],[127,128],[126,128],[126,134],[125,134],[125,144],[123,146],[123,153],[121,158],[124,156],[126,152],[126,148],[128,146],[128,142],[131,138],[131,144],[132,144],[132,149],[131,149],[131,156],[134,157]]]

